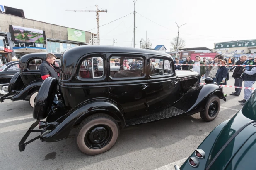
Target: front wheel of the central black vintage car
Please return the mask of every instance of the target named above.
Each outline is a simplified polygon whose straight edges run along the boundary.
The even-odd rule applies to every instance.
[[[206,121],[213,121],[219,114],[220,111],[220,98],[212,95],[209,97],[205,109],[200,111],[200,117]]]

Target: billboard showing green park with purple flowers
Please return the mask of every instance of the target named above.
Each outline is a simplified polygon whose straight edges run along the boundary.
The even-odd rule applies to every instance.
[[[26,28],[22,26],[10,26],[12,39],[15,41],[45,43],[45,33],[43,30]]]

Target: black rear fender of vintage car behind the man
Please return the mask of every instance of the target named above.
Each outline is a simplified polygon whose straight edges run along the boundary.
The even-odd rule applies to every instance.
[[[11,100],[16,101],[16,100],[25,99],[29,93],[34,92],[35,90],[39,90],[42,83],[43,83],[42,80],[36,80],[36,81],[29,83],[21,92],[18,92],[17,94],[15,94],[11,98]]]

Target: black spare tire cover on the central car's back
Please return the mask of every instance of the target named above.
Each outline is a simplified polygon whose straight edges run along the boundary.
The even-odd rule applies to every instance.
[[[48,77],[43,81],[33,108],[34,119],[41,120],[48,116],[57,90],[57,85],[58,80],[54,77]]]

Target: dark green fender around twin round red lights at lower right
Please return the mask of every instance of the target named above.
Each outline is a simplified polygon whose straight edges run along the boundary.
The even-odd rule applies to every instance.
[[[210,151],[212,149],[213,144],[215,143],[215,140],[219,136],[219,134],[222,131],[223,127],[225,127],[225,125],[227,125],[229,120],[226,120],[226,121],[220,123],[220,125],[218,125],[217,127],[215,127],[215,129],[212,132],[210,132],[210,134],[198,146],[197,149],[202,149],[205,152],[205,156],[209,156],[209,153],[210,153]],[[189,157],[195,157],[194,152]],[[199,167],[197,169],[198,170],[205,170],[205,165],[206,165],[206,161],[207,160],[208,160],[208,157],[207,158],[205,157],[204,159],[200,159],[200,165],[199,165]],[[195,168],[193,168],[188,163],[188,159],[183,163],[183,165],[180,168],[180,170],[193,170],[193,169],[195,169]]]

